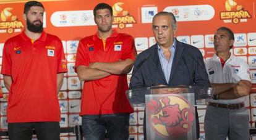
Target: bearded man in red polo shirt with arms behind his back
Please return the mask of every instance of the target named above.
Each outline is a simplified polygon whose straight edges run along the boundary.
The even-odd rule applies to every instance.
[[[58,91],[66,59],[61,40],[43,31],[40,2],[25,3],[25,30],[4,44],[2,70],[9,90],[7,121],[9,139],[60,139]]]

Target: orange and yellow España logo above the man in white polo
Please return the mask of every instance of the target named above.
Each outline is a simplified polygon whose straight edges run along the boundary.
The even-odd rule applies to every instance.
[[[224,2],[226,11],[220,12],[220,19],[224,23],[237,24],[239,22],[247,22],[247,19],[252,18],[249,11],[242,6],[242,1],[225,0]]]

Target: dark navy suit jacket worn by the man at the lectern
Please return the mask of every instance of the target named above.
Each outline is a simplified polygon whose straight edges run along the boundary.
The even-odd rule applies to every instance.
[[[164,78],[157,44],[141,52],[134,63],[130,89],[158,84],[208,87],[209,80],[201,52],[194,46],[177,41],[169,83]]]

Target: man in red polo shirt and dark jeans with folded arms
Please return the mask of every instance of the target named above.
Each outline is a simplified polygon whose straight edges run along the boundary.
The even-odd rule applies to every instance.
[[[75,69],[84,81],[82,128],[86,139],[128,139],[129,113],[126,74],[136,50],[132,36],[112,30],[113,10],[105,3],[93,9],[98,32],[80,40]]]

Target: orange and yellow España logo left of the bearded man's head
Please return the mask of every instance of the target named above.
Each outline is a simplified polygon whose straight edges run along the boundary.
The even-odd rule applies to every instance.
[[[1,11],[0,33],[20,32],[24,28],[17,15],[12,14],[12,7],[6,7]]]

